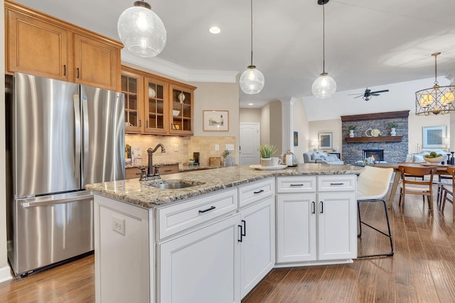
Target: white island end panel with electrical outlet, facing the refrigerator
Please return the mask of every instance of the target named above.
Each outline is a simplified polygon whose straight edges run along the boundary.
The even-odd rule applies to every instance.
[[[153,302],[149,210],[95,194],[94,214],[96,302]]]

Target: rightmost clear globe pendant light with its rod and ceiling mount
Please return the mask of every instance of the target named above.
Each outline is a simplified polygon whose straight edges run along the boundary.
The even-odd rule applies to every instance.
[[[313,82],[311,92],[318,99],[330,98],[336,92],[335,80],[326,73],[326,12],[324,5],[329,0],[318,0],[318,4],[322,5],[322,73],[321,77]]]

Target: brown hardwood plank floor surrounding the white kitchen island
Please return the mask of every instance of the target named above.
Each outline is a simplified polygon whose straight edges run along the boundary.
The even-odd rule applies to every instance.
[[[252,302],[454,302],[452,205],[434,217],[408,195],[402,214],[389,209],[395,255],[347,265],[276,268],[242,300]],[[382,204],[363,203],[363,219],[385,230]],[[385,236],[363,227],[358,253],[390,250]],[[94,256],[0,283],[0,302],[95,302]],[[136,303],[136,302],[134,302]],[[193,302],[191,302],[193,303]]]

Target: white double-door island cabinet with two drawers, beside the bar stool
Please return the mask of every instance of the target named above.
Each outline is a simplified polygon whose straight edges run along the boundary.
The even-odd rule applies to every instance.
[[[355,175],[302,178],[289,187],[281,186],[287,177],[278,178],[277,263],[350,262],[357,256]],[[299,193],[296,185],[308,178],[318,188]]]

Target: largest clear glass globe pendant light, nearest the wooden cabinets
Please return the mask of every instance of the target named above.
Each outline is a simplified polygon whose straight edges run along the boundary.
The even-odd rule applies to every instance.
[[[166,28],[150,4],[135,1],[117,21],[117,31],[125,48],[134,55],[155,57],[166,45]]]

